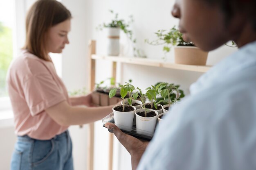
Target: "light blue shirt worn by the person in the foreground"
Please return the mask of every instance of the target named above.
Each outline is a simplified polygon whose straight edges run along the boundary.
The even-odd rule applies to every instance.
[[[256,170],[256,41],[190,92],[157,127],[138,170]]]

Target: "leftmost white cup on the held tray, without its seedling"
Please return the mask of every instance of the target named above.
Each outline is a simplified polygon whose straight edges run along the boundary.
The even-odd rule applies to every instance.
[[[133,111],[122,112],[122,111],[115,110],[115,108],[118,106],[123,106],[123,105],[116,105],[112,108],[114,112],[115,125],[117,125],[119,129],[131,131],[133,117],[134,117],[136,108],[134,106],[131,106],[134,109]],[[126,105],[126,106],[130,106],[130,105]]]

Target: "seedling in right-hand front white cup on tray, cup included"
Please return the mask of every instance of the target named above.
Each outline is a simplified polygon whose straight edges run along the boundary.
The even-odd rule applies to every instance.
[[[144,106],[143,109],[136,109],[135,111],[137,133],[153,136],[158,112],[153,109],[146,109],[144,103],[146,94],[142,93],[139,87],[137,89],[139,90],[139,98]]]

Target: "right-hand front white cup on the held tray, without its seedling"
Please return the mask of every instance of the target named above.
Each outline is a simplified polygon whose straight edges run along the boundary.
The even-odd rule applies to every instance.
[[[145,109],[137,109],[135,111],[137,133],[153,136],[155,131],[155,124],[156,124],[158,112],[153,109],[146,109],[147,112],[154,111],[156,113],[156,116],[149,117],[149,118],[142,117],[137,114],[138,112],[141,112],[141,111],[144,112],[144,110]]]

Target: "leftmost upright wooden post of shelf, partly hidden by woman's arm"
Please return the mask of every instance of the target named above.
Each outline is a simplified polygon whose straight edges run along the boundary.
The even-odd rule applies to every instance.
[[[90,91],[94,89],[95,84],[95,60],[92,59],[92,54],[96,53],[96,41],[89,41],[89,87]],[[88,155],[87,155],[87,170],[93,170],[94,156],[94,123],[89,124],[88,129]]]

